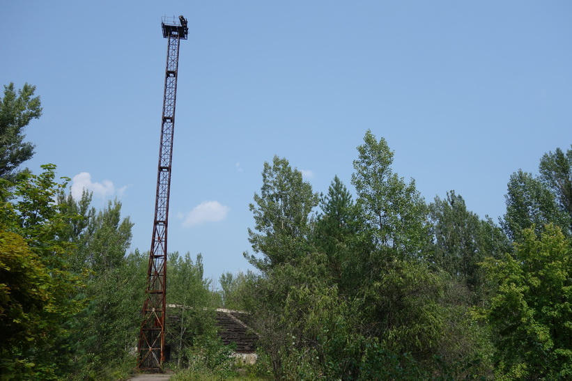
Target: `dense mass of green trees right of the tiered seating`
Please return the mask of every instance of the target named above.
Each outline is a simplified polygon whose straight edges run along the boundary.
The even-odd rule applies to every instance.
[[[337,177],[318,197],[287,160],[265,164],[245,253],[260,273],[235,287],[272,377],[569,378],[572,150],[511,176],[500,226],[454,191],[426,204],[392,160],[366,132],[355,201]]]

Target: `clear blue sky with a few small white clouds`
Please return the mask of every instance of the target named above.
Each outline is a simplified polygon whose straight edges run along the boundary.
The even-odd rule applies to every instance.
[[[98,208],[118,198],[132,248],[153,228],[167,40],[185,15],[169,251],[247,270],[265,161],[317,192],[353,191],[370,129],[426,201],[454,189],[497,220],[509,176],[572,143],[570,1],[6,1],[0,83],[37,86],[28,166],[54,163]]]

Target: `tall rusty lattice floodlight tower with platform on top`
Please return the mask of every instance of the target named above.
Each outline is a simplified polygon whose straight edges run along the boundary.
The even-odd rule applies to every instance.
[[[144,371],[161,371],[165,361],[165,300],[167,286],[167,222],[169,219],[169,188],[171,187],[171,157],[173,155],[173,130],[175,127],[175,101],[179,42],[186,40],[189,29],[183,16],[163,17],[163,37],[167,42],[167,68],[161,119],[161,144],[157,169],[157,196],[153,239],[149,251],[146,297],[143,304],[143,322],[139,333],[139,361],[137,367]]]

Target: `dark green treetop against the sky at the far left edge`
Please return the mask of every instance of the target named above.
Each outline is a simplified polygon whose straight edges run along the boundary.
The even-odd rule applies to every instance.
[[[24,84],[15,91],[14,84],[4,86],[0,98],[0,178],[13,179],[17,168],[29,160],[33,144],[24,142],[24,127],[42,115],[40,97],[34,97],[36,86]]]

